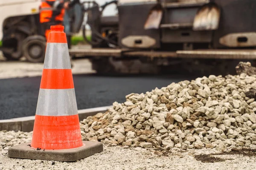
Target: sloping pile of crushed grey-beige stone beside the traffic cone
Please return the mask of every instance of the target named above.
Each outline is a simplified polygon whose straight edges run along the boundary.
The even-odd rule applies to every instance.
[[[248,65],[248,63],[247,63]],[[169,150],[256,144],[256,75],[210,75],[129,94],[80,122],[83,140]],[[248,94],[248,95],[246,95]]]

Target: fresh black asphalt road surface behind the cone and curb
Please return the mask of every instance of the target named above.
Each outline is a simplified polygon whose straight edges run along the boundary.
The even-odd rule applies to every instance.
[[[145,93],[166,87],[172,82],[191,80],[195,76],[99,76],[73,75],[78,109],[124,102],[125,95]],[[0,119],[34,116],[41,77],[0,79]]]

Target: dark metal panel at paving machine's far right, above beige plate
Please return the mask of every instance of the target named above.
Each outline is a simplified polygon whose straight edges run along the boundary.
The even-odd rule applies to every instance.
[[[256,31],[256,0],[214,0],[221,8],[218,30],[214,32],[213,46],[224,48],[219,39],[230,33]]]

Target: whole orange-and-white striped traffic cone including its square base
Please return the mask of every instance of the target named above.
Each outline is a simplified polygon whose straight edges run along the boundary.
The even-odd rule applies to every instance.
[[[40,154],[37,154],[39,153],[38,150]],[[9,148],[8,156],[74,161],[102,150],[102,143],[82,141],[81,139],[64,26],[51,26],[51,32],[47,40],[32,142],[28,145],[20,144]]]

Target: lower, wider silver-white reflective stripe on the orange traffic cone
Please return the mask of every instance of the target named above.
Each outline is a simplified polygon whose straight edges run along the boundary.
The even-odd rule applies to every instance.
[[[70,116],[78,114],[75,89],[40,89],[36,114]]]

